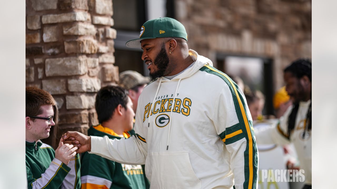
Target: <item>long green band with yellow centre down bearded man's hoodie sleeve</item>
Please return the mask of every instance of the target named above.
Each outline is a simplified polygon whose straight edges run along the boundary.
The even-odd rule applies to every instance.
[[[247,140],[246,150],[244,152],[244,168],[245,168],[245,181],[244,188],[256,188],[257,182],[257,148],[256,141],[253,138],[253,133],[251,130],[252,124],[248,121],[247,110],[245,106],[244,97],[238,92],[238,85],[229,78],[226,74],[220,72],[219,70],[205,65],[200,69],[200,71],[205,71],[209,74],[216,75],[220,77],[229,87],[232,92],[232,98],[235,105],[236,114],[239,120],[239,125],[243,131],[243,134]],[[222,136],[223,137],[223,136]]]

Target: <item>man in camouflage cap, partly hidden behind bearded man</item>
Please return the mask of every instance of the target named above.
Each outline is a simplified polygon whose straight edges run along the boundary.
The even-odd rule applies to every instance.
[[[149,79],[147,77],[133,70],[127,70],[119,74],[118,84],[129,92],[134,112],[137,109],[138,98],[148,83]]]

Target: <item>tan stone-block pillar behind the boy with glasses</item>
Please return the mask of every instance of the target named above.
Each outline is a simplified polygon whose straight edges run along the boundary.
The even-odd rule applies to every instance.
[[[26,86],[50,92],[58,137],[98,124],[95,93],[118,81],[112,0],[26,0]]]

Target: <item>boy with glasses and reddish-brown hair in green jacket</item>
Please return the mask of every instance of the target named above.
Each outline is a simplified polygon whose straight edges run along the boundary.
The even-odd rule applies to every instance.
[[[26,87],[26,170],[28,189],[80,188],[80,159],[73,145],[60,140],[57,149],[42,143],[56,137],[58,109],[42,89]]]

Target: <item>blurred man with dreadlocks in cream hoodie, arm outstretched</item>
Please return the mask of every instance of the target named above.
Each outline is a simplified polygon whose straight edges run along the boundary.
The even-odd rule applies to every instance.
[[[311,62],[299,59],[284,69],[286,91],[293,101],[275,128],[255,130],[257,144],[294,143],[305,186],[311,189]]]

